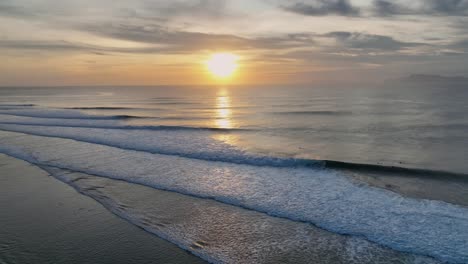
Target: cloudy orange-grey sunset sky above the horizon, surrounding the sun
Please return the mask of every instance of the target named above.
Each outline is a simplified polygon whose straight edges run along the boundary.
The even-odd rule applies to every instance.
[[[0,85],[374,84],[468,75],[468,0],[0,0]]]

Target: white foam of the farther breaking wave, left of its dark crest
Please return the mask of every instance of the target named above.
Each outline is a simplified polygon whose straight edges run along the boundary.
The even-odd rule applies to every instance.
[[[48,126],[2,123],[7,123],[7,121],[0,121],[0,129],[8,131],[40,136],[71,138],[124,149],[178,155],[195,159],[263,166],[311,165],[314,163],[312,160],[306,161],[294,158],[248,154],[223,141],[216,140],[213,137],[213,133],[206,130],[194,130],[187,133],[184,129],[165,129],[164,127],[160,129],[137,129],[136,127],[125,129],[125,127],[120,126],[121,129],[102,129],[58,126],[59,124],[57,124],[57,126],[51,126],[50,122],[46,122],[49,124]],[[101,123],[101,121],[99,121],[99,123]],[[37,122],[37,124],[39,125],[41,122]],[[92,123],[88,122],[88,124],[90,126],[98,125],[96,121],[92,121]],[[115,128],[118,127],[115,123],[110,124],[115,125]],[[102,124],[99,125],[102,126]],[[320,161],[316,161],[316,163],[317,165],[321,164]]]

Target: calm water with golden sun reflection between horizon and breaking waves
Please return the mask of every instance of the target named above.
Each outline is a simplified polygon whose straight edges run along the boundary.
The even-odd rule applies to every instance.
[[[75,108],[128,116],[115,122],[122,126],[224,129],[227,143],[269,156],[468,173],[467,89],[70,87],[0,94],[2,104],[34,104],[63,117],[71,112],[63,109]]]

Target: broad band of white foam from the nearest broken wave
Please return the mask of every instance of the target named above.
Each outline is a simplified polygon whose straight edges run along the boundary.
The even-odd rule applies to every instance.
[[[12,132],[0,132],[0,151],[39,165],[211,198],[312,223],[399,251],[453,263],[468,261],[467,207],[355,184],[327,169],[194,160]]]

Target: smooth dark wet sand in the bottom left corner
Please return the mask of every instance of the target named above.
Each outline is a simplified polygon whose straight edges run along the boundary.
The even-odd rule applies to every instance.
[[[0,263],[205,263],[0,154]]]

